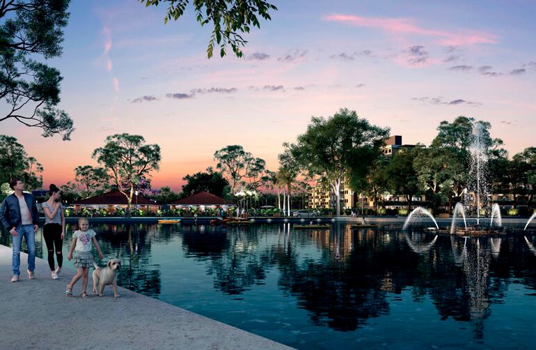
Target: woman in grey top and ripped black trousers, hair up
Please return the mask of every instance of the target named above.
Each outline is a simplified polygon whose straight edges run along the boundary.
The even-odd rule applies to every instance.
[[[57,280],[63,265],[61,247],[65,237],[65,215],[63,215],[63,206],[61,205],[61,192],[56,185],[50,185],[49,199],[41,205],[45,212],[43,238],[47,244],[51,277],[53,280]],[[58,260],[58,268],[54,268],[54,252],[56,252],[56,260]]]

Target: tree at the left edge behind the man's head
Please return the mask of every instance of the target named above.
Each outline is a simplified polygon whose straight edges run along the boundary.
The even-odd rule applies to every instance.
[[[15,137],[0,135],[0,169],[0,183],[22,178],[27,190],[42,186],[42,165],[36,158],[28,156]]]

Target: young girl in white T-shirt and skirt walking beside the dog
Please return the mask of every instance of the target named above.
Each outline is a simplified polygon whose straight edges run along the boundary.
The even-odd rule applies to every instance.
[[[87,218],[79,218],[78,230],[72,234],[72,243],[67,259],[73,259],[74,267],[77,268],[77,274],[72,277],[72,281],[67,285],[67,296],[72,296],[72,287],[82,277],[82,298],[87,298],[89,267],[93,266],[93,256],[91,255],[91,243],[95,245],[100,259],[102,252],[100,251],[99,243],[95,239],[95,231],[89,229],[89,220]],[[76,249],[75,249],[76,246]],[[74,254],[73,254],[74,250]]]

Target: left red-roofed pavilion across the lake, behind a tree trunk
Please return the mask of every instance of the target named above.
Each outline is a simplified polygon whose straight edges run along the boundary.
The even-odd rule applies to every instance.
[[[117,208],[127,208],[127,197],[119,191],[111,191],[103,195],[88,197],[75,201],[73,204],[74,211],[79,211],[81,208],[105,209],[108,213],[115,211]],[[147,199],[142,196],[134,195],[132,197],[131,208],[139,208],[143,211],[155,213],[161,209],[161,204],[157,204],[152,199]]]

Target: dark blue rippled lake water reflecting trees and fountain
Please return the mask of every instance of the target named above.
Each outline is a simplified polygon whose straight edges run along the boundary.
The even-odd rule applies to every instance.
[[[533,234],[93,228],[105,259],[121,254],[121,286],[292,347],[536,347]]]

